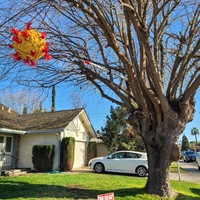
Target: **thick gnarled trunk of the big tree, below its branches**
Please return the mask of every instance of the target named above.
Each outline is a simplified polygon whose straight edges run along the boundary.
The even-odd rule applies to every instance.
[[[183,128],[180,122],[174,112],[157,125],[152,117],[129,117],[129,123],[141,134],[146,146],[149,167],[146,191],[150,194],[170,198],[175,194],[170,184],[169,170],[171,163],[180,158],[180,148],[176,144]]]

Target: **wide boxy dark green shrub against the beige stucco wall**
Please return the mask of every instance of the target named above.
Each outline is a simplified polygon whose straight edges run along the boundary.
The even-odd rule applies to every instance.
[[[32,155],[32,162],[35,171],[52,171],[53,159],[55,155],[54,145],[34,145],[32,149]]]

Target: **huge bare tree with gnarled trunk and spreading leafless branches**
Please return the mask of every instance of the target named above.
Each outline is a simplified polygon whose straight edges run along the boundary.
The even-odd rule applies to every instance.
[[[0,15],[1,77],[91,86],[127,108],[148,154],[147,192],[172,197],[169,167],[180,157],[176,142],[194,117],[200,85],[198,0],[43,0],[10,10]],[[25,20],[51,41],[54,60],[35,69],[13,64],[5,45],[11,24],[20,29]]]

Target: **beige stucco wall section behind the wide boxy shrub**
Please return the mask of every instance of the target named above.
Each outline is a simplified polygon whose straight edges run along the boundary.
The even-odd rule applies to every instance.
[[[27,134],[22,135],[20,138],[20,150],[19,150],[19,168],[33,168],[32,163],[32,148],[34,145],[55,145],[55,157],[53,169],[58,169],[58,135],[55,133],[45,134]]]

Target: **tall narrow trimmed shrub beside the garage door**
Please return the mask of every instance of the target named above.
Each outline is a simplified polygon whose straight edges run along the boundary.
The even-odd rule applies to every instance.
[[[74,165],[75,139],[66,137],[61,142],[60,170],[71,171]]]

